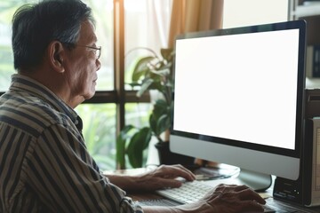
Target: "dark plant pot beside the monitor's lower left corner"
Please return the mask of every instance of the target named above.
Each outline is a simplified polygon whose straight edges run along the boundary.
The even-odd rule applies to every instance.
[[[181,164],[185,167],[194,165],[195,158],[182,154],[172,153],[169,148],[169,142],[158,142],[155,146],[159,154],[160,164]]]

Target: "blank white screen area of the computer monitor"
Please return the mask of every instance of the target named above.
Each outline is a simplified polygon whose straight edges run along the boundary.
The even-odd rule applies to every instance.
[[[298,43],[298,29],[177,40],[173,130],[294,149]]]

